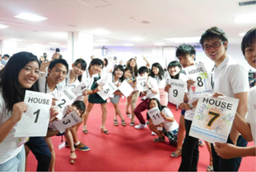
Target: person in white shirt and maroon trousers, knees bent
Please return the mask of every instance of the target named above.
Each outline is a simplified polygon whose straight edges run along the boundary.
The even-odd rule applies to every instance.
[[[148,102],[150,98],[157,98],[160,99],[159,90],[158,90],[158,83],[157,80],[155,80],[153,77],[148,76],[148,68],[146,66],[142,66],[139,69],[140,76],[147,77],[147,82],[145,85],[148,87],[148,90],[146,92],[143,92],[142,94],[146,96],[147,98],[143,100],[135,109],[134,114],[139,119],[140,124],[135,126],[135,129],[145,129],[147,128],[147,124],[141,114],[141,112],[148,109]]]

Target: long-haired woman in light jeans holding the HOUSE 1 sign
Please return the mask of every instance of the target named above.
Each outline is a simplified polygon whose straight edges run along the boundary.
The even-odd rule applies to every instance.
[[[39,68],[40,63],[34,54],[19,52],[0,72],[0,171],[25,171],[24,143],[27,138],[14,138],[14,134],[17,122],[27,110],[23,102],[25,90],[39,91]],[[40,171],[49,167],[49,148],[45,149],[44,155],[43,165],[46,167],[39,166]]]

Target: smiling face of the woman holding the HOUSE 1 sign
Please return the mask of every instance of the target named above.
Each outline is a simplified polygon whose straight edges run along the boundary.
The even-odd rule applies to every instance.
[[[20,70],[18,80],[21,88],[29,89],[38,80],[39,64],[37,61],[31,61]]]

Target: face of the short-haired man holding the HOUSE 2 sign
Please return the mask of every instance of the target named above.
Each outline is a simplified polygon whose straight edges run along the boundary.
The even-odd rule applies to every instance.
[[[63,64],[57,63],[52,70],[48,69],[48,74],[48,77],[53,81],[53,83],[58,84],[67,76],[67,68]]]

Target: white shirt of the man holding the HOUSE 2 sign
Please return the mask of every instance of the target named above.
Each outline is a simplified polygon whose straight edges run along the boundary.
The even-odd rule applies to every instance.
[[[50,93],[53,95],[53,97],[58,97],[58,87],[56,86],[55,89],[50,92],[50,89],[47,84],[47,77],[45,72],[40,72],[39,77],[38,77],[38,86],[39,86],[39,91],[43,93]]]

